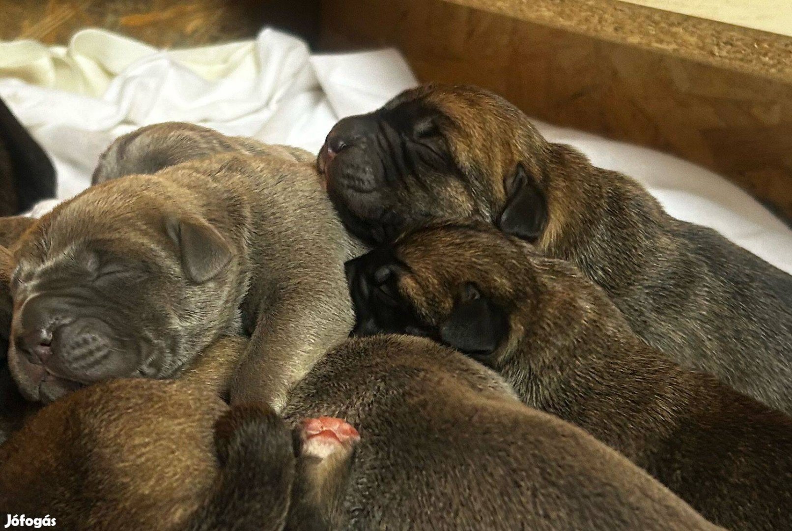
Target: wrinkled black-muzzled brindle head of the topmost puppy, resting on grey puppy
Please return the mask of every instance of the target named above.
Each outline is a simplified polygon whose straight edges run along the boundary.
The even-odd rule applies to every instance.
[[[427,85],[339,121],[317,164],[346,227],[367,243],[468,216],[535,241],[547,223],[540,161],[549,150],[501,97]]]

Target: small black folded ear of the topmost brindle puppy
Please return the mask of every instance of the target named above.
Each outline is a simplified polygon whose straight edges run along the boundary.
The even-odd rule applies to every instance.
[[[547,200],[522,164],[506,184],[506,206],[497,226],[506,234],[535,243],[547,225]]]

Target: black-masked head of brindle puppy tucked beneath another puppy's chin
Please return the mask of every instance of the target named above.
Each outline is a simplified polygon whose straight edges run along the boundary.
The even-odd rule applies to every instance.
[[[492,365],[512,332],[521,334],[517,312],[531,312],[528,253],[527,243],[483,223],[403,235],[347,262],[353,334],[423,335]]]

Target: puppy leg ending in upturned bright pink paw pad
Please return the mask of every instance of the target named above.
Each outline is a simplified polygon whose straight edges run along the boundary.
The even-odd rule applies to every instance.
[[[341,529],[357,430],[340,418],[308,418],[295,428],[297,477],[287,529]]]

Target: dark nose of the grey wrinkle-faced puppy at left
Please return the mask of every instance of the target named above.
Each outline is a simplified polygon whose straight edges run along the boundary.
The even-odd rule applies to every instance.
[[[44,364],[52,355],[52,334],[63,321],[58,308],[48,300],[34,297],[22,307],[14,342],[31,363]]]

